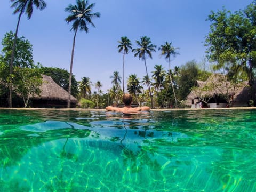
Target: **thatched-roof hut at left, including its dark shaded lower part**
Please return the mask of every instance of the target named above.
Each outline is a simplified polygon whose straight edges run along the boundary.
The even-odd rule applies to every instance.
[[[33,107],[65,108],[68,102],[68,92],[55,83],[50,76],[42,75],[41,94],[31,98]],[[71,107],[75,107],[77,99],[71,95]]]

